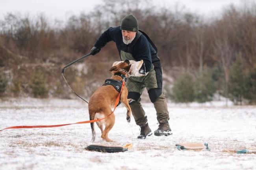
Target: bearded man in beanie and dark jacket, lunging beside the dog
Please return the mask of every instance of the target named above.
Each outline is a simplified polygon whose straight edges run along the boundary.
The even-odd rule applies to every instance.
[[[154,104],[159,122],[154,135],[171,135],[169,127],[169,112],[165,95],[162,93],[162,68],[157,56],[157,49],[148,36],[139,31],[138,21],[133,15],[127,15],[122,19],[121,26],[110,27],[96,41],[91,49],[91,55],[96,55],[109,41],[116,43],[121,60],[143,60],[143,66],[139,70],[145,76],[130,77],[126,86],[128,99],[135,122],[141,127],[138,139],[145,139],[152,135],[148,126],[147,116],[141,106],[141,94],[147,88],[150,101]]]

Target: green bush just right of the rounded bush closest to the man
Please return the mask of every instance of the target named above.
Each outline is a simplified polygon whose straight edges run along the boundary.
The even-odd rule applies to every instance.
[[[200,103],[212,101],[216,90],[217,86],[211,72],[206,69],[195,82],[195,100]]]

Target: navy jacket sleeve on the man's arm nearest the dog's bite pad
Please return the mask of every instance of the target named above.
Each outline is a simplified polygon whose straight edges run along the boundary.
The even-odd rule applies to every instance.
[[[135,58],[137,60],[143,60],[146,67],[146,72],[150,71],[152,65],[150,44],[146,37],[141,36],[138,44],[135,46]]]

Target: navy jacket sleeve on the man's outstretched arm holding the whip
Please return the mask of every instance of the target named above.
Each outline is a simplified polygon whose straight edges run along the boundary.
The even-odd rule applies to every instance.
[[[96,40],[94,46],[96,48],[104,47],[109,41],[115,42],[115,32],[117,31],[117,27],[110,27],[107,29],[100,37]]]

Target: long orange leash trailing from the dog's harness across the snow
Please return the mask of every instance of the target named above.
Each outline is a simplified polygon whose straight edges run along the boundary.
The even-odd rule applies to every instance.
[[[119,99],[120,99],[120,96],[121,96],[121,92],[122,92],[122,88],[124,86],[124,81],[122,81],[122,87],[121,87],[121,91],[120,93],[118,94],[117,96],[117,99],[115,100],[115,107],[114,107],[114,110],[112,113],[114,113],[115,109],[117,108],[117,104],[119,103]],[[110,115],[112,115],[112,113]],[[91,120],[91,121],[83,121],[83,122],[76,122],[76,123],[68,123],[68,124],[56,124],[56,125],[39,125],[39,126],[11,126],[11,127],[8,127],[8,128],[4,128],[2,130],[6,130],[6,129],[23,129],[23,128],[54,128],[54,127],[60,127],[60,126],[67,126],[67,125],[70,125],[70,124],[83,124],[83,123],[92,123],[92,122],[98,122],[98,121],[101,121],[103,119],[106,119],[107,117],[109,117],[110,115],[102,118],[102,119],[94,119],[94,120]],[[2,131],[0,130],[0,131]]]

